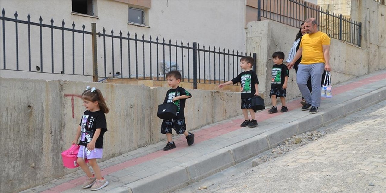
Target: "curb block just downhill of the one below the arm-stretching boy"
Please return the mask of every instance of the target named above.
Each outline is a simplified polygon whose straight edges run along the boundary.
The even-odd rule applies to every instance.
[[[198,181],[222,169],[233,166],[234,159],[228,149],[219,149],[180,166],[187,168],[191,181]]]

